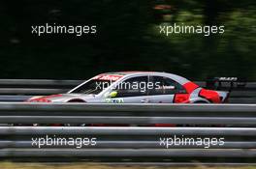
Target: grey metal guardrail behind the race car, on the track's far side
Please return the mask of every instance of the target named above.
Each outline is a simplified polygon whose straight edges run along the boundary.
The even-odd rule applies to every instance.
[[[0,79],[0,101],[23,101],[32,96],[66,93],[84,80]],[[206,87],[206,82],[196,82]],[[256,82],[234,88],[231,103],[256,103]]]

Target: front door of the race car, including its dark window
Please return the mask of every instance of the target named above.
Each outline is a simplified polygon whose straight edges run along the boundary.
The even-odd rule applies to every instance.
[[[148,76],[136,76],[119,82],[112,92],[116,96],[105,99],[109,103],[146,103],[149,102],[146,85]]]

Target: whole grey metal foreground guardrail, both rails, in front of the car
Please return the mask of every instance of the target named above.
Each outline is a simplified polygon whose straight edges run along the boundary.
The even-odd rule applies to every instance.
[[[2,158],[211,157],[212,161],[215,159],[212,157],[232,157],[255,162],[256,157],[256,104],[1,102],[0,124]],[[105,126],[96,127],[99,124]],[[176,124],[176,127],[159,124]],[[70,138],[78,143],[78,138],[85,137],[86,144],[79,148],[66,144]],[[58,138],[62,139],[61,144],[53,144]],[[47,144],[48,139],[51,144]]]

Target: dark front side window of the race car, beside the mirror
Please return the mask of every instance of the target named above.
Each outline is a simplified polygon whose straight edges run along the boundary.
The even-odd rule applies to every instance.
[[[121,81],[113,91],[117,94],[114,98],[140,97],[147,95],[148,76],[131,77]]]

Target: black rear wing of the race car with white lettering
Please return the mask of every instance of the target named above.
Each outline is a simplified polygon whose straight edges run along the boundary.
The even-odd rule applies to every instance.
[[[239,77],[213,77],[207,79],[206,88],[212,90],[232,91],[244,88],[246,80]]]

